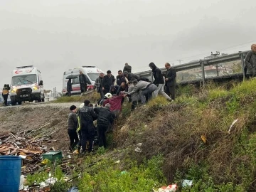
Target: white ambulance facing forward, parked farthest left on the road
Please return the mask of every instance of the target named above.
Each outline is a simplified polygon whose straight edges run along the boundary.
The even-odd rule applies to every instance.
[[[17,67],[11,78],[11,105],[21,105],[23,101],[44,102],[43,80],[40,70],[33,65]]]

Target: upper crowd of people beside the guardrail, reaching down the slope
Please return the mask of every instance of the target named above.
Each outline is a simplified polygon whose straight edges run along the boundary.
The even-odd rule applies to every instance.
[[[154,63],[149,63],[149,68],[152,70],[154,82],[150,82],[146,78],[139,78],[132,73],[132,67],[128,63],[124,65],[124,72],[118,71],[116,78],[110,70],[107,70],[107,75],[100,73],[95,82],[95,90],[100,93],[101,97],[98,105],[112,97],[114,100],[112,104],[122,106],[124,97],[129,97],[129,102],[132,102],[132,110],[134,110],[138,103],[144,105],[151,97],[157,97],[159,94],[163,95],[166,100],[175,100],[176,70],[171,68],[169,63],[165,63],[165,75]],[[114,110],[120,111],[121,107]]]

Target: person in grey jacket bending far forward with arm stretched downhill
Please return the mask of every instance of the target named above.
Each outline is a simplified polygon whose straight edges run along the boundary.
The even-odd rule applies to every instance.
[[[142,102],[142,104],[146,103],[146,97],[148,100],[152,97],[152,92],[154,92],[157,87],[151,82],[146,82],[144,80],[140,80],[139,82],[137,80],[134,80],[133,82],[134,90],[132,92],[128,92],[125,96],[132,96],[134,93],[139,92],[139,97]]]

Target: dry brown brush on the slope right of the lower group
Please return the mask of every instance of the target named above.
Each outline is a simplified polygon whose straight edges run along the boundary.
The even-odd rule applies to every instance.
[[[114,143],[132,151],[142,143],[138,162],[164,155],[169,182],[191,178],[196,191],[256,191],[256,80],[237,84],[200,91],[189,85],[174,103],[158,97],[130,116],[124,109]]]

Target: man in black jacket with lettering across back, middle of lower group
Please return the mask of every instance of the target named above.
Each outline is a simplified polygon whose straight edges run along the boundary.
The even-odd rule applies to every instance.
[[[89,141],[89,152],[92,151],[93,139],[95,134],[95,127],[93,121],[97,119],[97,114],[95,114],[92,107],[89,107],[90,101],[85,100],[85,105],[80,109],[80,126],[82,134],[82,154],[85,154],[86,141]]]

